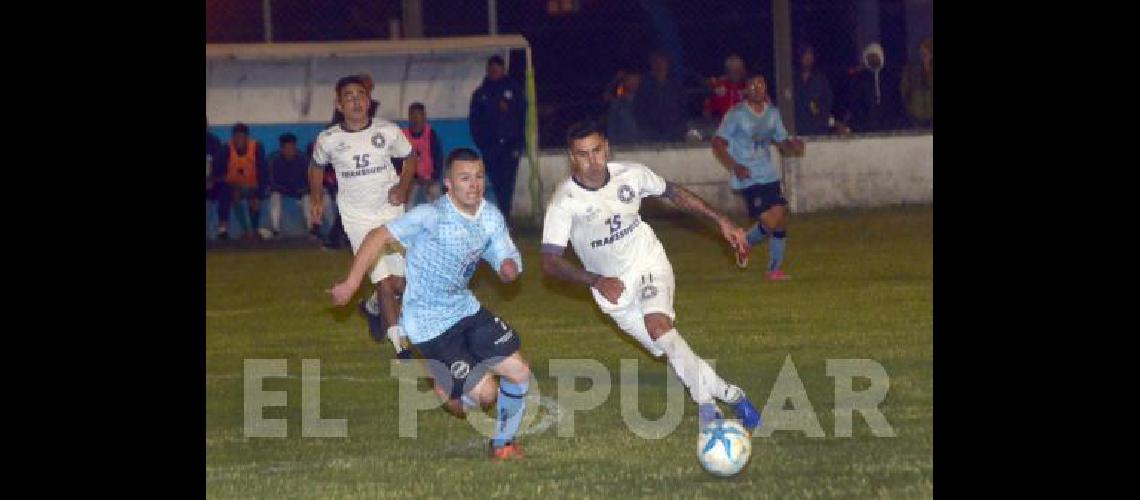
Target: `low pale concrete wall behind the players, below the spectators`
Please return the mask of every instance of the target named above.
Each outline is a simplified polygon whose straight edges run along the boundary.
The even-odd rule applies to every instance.
[[[934,203],[933,133],[821,137],[805,141],[807,154],[784,162],[784,197],[792,212]],[[773,151],[779,158],[779,153],[774,148]],[[542,150],[539,156],[545,205],[554,186],[569,175],[569,165],[564,150]],[[718,210],[744,214],[740,196],[728,188],[728,172],[712,157],[708,142],[614,148],[613,157],[644,163]],[[531,215],[529,179],[530,167],[523,158],[515,183],[513,216]]]

